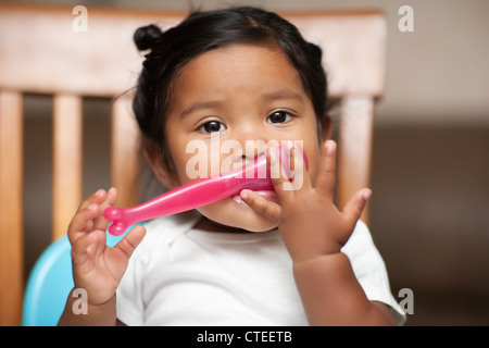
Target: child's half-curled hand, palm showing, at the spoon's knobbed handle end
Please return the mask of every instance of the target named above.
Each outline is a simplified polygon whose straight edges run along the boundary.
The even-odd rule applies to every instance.
[[[115,188],[91,195],[82,202],[67,231],[75,287],[87,290],[88,303],[92,306],[105,303],[115,295],[129,257],[146,234],[145,227],[137,226],[115,247],[105,245],[109,221],[103,217],[103,210],[116,196]]]

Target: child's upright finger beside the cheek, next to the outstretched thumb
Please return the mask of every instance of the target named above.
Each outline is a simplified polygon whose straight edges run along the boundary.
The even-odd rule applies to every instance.
[[[316,189],[333,199],[336,182],[336,142],[326,140],[321,156]]]

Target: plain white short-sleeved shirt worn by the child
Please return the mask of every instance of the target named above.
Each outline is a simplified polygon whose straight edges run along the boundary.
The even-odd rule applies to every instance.
[[[193,228],[186,213],[146,224],[117,289],[127,325],[308,325],[292,261],[277,229],[217,233]],[[385,302],[400,324],[384,261],[359,222],[342,251],[369,300]]]

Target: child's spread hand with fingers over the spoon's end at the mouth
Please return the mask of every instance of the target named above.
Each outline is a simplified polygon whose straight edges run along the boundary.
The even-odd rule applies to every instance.
[[[335,206],[336,144],[328,140],[324,145],[316,185],[312,186],[304,171],[300,150],[292,150],[291,163],[299,162],[294,175],[302,175],[302,186],[294,188],[285,176],[278,156],[268,151],[271,171],[279,165],[280,176],[273,178],[279,206],[265,200],[251,190],[242,190],[241,198],[253,209],[275,221],[294,262],[312,260],[317,257],[340,252],[351,236],[372,191],[362,189],[356,192],[339,211]],[[294,154],[296,153],[296,154]]]

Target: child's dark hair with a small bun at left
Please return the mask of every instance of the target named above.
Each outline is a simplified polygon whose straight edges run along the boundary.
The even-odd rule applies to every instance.
[[[275,46],[285,53],[312,100],[321,134],[327,103],[322,50],[305,41],[294,25],[276,13],[250,7],[196,12],[164,33],[152,24],[140,27],[134,40],[139,50],[150,52],[146,54],[133,109],[145,146],[160,152],[166,170],[173,170],[164,136],[172,84],[197,55],[233,44]]]

